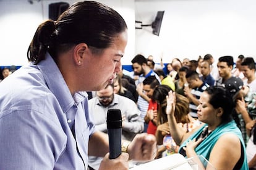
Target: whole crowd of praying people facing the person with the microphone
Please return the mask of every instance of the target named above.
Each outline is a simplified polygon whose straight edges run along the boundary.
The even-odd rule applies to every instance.
[[[96,129],[107,133],[108,109],[121,109],[122,137],[155,135],[156,159],[200,154],[215,168],[256,169],[253,57],[240,55],[234,62],[233,56],[221,56],[215,62],[206,54],[197,60],[174,58],[164,65],[138,54],[131,64],[133,72],[122,70],[113,85],[93,91],[88,105]],[[1,72],[0,81],[11,75],[8,68]],[[90,157],[90,169],[97,169],[101,159]]]

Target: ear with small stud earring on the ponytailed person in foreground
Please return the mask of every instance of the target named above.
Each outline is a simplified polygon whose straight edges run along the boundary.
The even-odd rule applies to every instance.
[[[85,51],[88,49],[87,44],[80,43],[74,48],[74,62],[78,66],[81,66],[85,59]]]

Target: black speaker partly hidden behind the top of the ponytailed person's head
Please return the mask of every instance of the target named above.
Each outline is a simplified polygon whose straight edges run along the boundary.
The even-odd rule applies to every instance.
[[[56,2],[49,4],[49,19],[57,20],[62,12],[69,8],[69,3],[67,2]]]

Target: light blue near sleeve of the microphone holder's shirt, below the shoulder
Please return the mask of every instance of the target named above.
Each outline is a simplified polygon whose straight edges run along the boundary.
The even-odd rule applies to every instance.
[[[54,118],[32,109],[1,114],[0,136],[0,169],[14,170],[53,169],[67,140]]]

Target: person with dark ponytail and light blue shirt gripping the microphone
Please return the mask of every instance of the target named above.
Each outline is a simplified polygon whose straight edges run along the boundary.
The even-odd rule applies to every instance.
[[[30,64],[0,85],[0,169],[88,169],[88,155],[104,156],[99,169],[128,169],[129,159],[153,159],[148,134],[122,142],[127,153],[109,159],[108,135],[88,113],[86,91],[113,83],[126,45],[126,22],[99,2],[75,2],[41,23]]]

